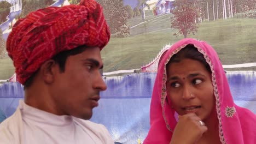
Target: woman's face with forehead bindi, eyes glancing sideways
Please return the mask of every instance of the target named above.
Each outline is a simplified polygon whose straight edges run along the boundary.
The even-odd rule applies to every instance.
[[[167,95],[179,115],[195,113],[210,118],[215,106],[211,73],[194,59],[172,62],[167,68]]]

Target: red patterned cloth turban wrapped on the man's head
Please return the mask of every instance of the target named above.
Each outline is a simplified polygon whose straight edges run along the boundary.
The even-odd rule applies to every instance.
[[[101,5],[82,0],[79,5],[39,9],[19,19],[7,39],[7,51],[17,80],[24,84],[57,53],[81,45],[102,50],[109,38]]]

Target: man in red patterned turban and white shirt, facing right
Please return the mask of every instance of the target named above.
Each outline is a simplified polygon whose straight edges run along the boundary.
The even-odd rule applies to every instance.
[[[88,121],[98,105],[100,50],[109,28],[100,4],[40,9],[20,19],[7,40],[25,99],[0,125],[0,143],[111,143],[107,129]]]

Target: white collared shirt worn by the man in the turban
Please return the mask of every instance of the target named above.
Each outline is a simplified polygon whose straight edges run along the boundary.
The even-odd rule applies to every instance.
[[[0,124],[0,143],[113,144],[102,124],[72,116],[57,116],[20,101],[18,109]]]

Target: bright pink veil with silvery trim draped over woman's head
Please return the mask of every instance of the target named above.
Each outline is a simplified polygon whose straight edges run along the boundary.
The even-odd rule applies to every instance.
[[[177,122],[174,110],[166,103],[166,64],[170,58],[188,44],[203,54],[212,70],[212,85],[219,120],[219,137],[222,143],[256,143],[256,115],[237,106],[232,98],[225,71],[216,51],[205,41],[183,39],[172,45],[163,56],[150,104],[150,129],[144,144],[168,144]]]

